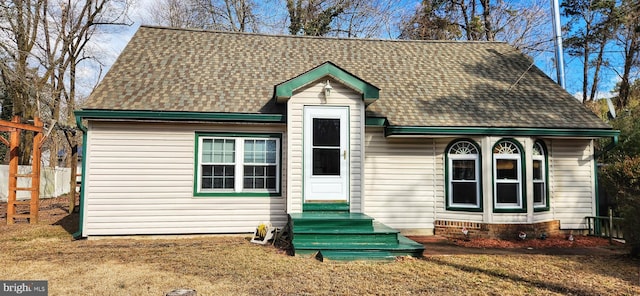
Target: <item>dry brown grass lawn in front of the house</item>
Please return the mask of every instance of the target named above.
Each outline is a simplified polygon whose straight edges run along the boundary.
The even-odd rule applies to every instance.
[[[622,255],[318,262],[243,237],[73,241],[49,224],[0,226],[0,279],[48,280],[49,295],[640,295]]]

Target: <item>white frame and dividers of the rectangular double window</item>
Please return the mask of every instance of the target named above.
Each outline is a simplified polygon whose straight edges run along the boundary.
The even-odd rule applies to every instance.
[[[255,134],[253,134],[255,135]],[[216,164],[216,163],[203,163],[202,161],[202,152],[204,140],[234,140],[235,141],[235,151],[234,151],[234,188],[233,189],[225,189],[225,188],[202,188],[202,167],[205,164]],[[244,146],[246,140],[267,140],[267,141],[275,141],[276,145],[276,155],[275,155],[275,164],[272,163],[247,163],[247,165],[274,165],[276,169],[276,182],[274,189],[247,189],[244,188]],[[274,195],[280,193],[280,182],[282,178],[282,172],[280,170],[281,166],[281,153],[282,147],[280,145],[281,139],[279,137],[272,137],[265,135],[262,136],[242,136],[238,134],[234,134],[233,136],[225,136],[224,134],[215,133],[213,135],[200,134],[197,135],[198,141],[198,151],[197,151],[197,168],[196,168],[196,185],[195,185],[195,195],[199,196],[215,196],[215,195]],[[230,164],[229,164],[230,165]]]

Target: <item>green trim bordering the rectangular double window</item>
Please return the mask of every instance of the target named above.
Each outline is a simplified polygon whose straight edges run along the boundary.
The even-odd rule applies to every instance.
[[[195,155],[193,165],[193,196],[194,197],[281,197],[282,196],[282,134],[280,133],[225,133],[225,132],[195,132]],[[279,149],[279,183],[277,192],[221,192],[221,191],[198,191],[198,180],[200,175],[198,174],[198,168],[200,166],[200,138],[201,137],[229,137],[229,138],[265,138],[273,139],[278,138],[280,141]]]

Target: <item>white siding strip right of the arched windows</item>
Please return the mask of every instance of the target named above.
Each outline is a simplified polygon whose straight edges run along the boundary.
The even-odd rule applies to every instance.
[[[595,215],[593,141],[553,139],[549,149],[549,186],[553,218],[563,229],[584,229]]]

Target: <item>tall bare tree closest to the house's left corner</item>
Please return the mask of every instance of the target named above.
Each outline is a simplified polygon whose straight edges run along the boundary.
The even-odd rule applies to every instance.
[[[122,25],[129,3],[126,0],[63,1],[48,7],[43,15],[44,41],[40,48],[45,53],[42,64],[51,69],[50,79],[52,119],[58,122],[69,147],[67,164],[71,168],[71,187],[75,188],[78,161],[79,131],[75,128],[77,99],[77,69],[85,61],[95,59],[87,45],[96,32],[105,25]],[[62,113],[61,111],[66,111]],[[55,145],[54,145],[55,146]],[[56,154],[57,151],[52,151]],[[74,201],[70,201],[70,211]]]

